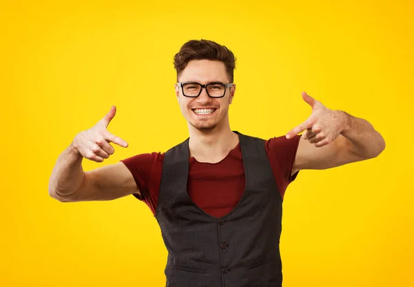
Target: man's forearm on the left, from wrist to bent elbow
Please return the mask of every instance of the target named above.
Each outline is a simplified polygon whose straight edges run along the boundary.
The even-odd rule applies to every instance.
[[[49,194],[62,200],[83,184],[82,155],[71,144],[59,155],[49,180]]]

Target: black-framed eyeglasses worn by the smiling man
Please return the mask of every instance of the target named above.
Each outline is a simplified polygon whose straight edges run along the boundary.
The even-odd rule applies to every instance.
[[[183,91],[185,97],[198,97],[201,94],[203,88],[206,89],[208,97],[222,98],[226,95],[227,88],[233,86],[233,83],[208,83],[201,85],[201,83],[177,83]]]

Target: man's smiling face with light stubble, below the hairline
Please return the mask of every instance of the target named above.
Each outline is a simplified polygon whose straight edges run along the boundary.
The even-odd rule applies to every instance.
[[[230,83],[224,63],[210,60],[189,61],[179,82],[197,82],[203,85],[213,82]],[[175,93],[184,118],[197,130],[212,130],[228,123],[228,106],[233,100],[235,86],[227,88],[221,98],[208,97],[205,88],[198,97],[184,97],[178,85],[175,85]]]

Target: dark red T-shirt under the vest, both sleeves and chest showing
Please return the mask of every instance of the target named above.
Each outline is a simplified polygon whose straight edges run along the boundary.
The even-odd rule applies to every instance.
[[[266,140],[266,153],[275,175],[280,195],[296,176],[290,176],[300,135],[293,139],[273,137]],[[144,201],[155,215],[158,204],[164,153],[152,152],[121,160],[139,187],[137,199]],[[187,192],[194,203],[213,217],[223,217],[235,208],[246,185],[240,143],[216,164],[189,159]]]

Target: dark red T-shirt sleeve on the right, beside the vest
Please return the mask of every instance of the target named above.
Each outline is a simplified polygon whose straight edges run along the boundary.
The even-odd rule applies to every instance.
[[[300,137],[301,135],[295,135],[292,139],[286,139],[285,136],[281,136],[266,141],[266,152],[282,198],[287,186],[299,173],[298,171],[291,175]]]

